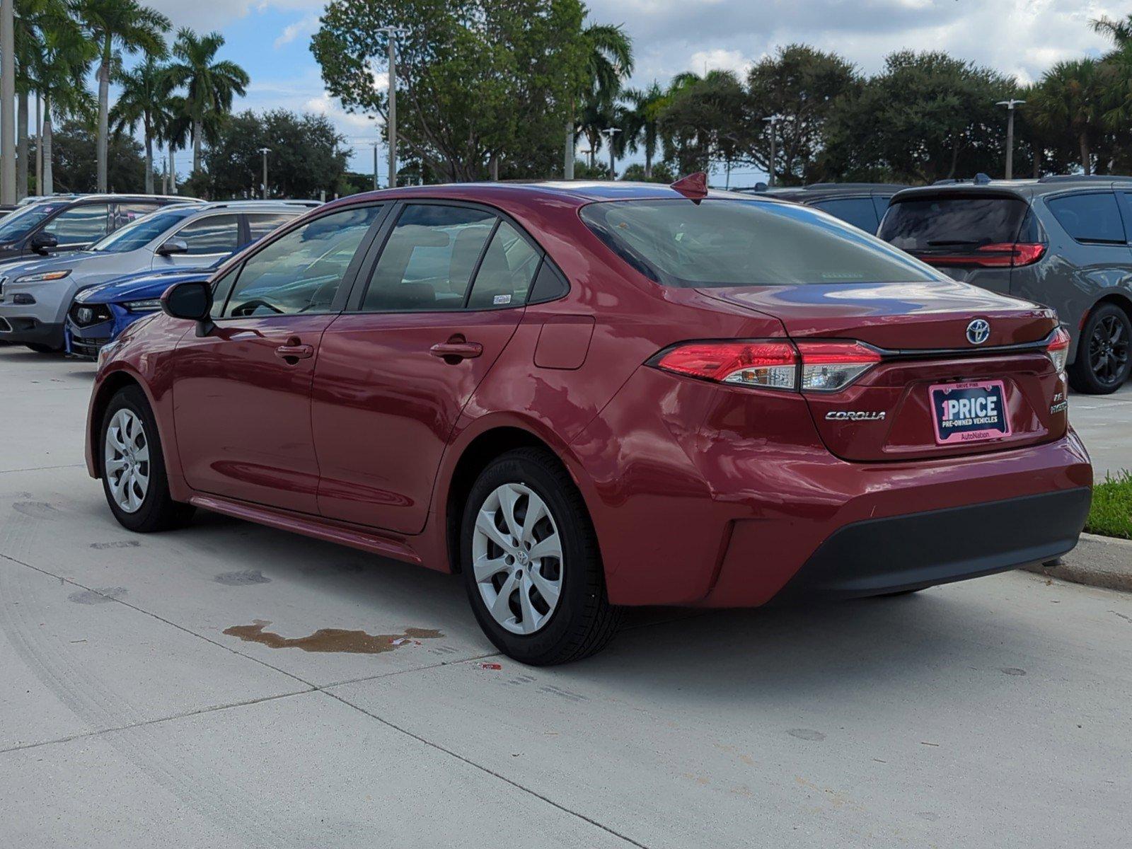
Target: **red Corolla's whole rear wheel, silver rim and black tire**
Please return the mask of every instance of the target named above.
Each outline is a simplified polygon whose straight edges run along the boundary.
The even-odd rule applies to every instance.
[[[606,595],[585,504],[548,452],[518,448],[483,470],[464,508],[460,550],[480,627],[515,660],[580,660],[616,634],[620,611]]]

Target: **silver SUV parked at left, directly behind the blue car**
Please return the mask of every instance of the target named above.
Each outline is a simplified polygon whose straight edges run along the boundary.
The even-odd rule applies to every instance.
[[[182,204],[139,218],[89,250],[0,266],[0,338],[35,351],[62,350],[67,312],[83,289],[123,274],[211,265],[314,206],[317,200]]]

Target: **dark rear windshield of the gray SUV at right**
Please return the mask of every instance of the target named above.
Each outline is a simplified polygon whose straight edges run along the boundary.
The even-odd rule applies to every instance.
[[[933,251],[1013,242],[1029,204],[1007,197],[934,197],[898,200],[877,233],[902,250]]]

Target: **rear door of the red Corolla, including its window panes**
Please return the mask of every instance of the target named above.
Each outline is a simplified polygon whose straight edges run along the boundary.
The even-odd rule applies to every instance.
[[[461,411],[511,340],[541,260],[484,207],[406,203],[314,388],[323,515],[419,533]]]

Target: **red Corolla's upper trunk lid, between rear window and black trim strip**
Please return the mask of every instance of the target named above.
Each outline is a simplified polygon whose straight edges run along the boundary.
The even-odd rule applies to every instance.
[[[957,281],[728,286],[701,294],[778,318],[795,338],[855,338],[887,350],[969,348],[967,326],[990,325],[981,344],[1046,338],[1053,310]]]

